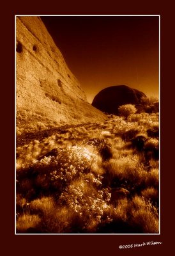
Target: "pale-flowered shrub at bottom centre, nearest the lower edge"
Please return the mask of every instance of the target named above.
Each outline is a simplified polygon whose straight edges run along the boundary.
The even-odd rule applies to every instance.
[[[84,232],[95,232],[104,211],[109,207],[108,189],[98,190],[102,184],[100,177],[90,177],[93,180],[76,180],[59,197],[59,204],[66,205],[73,212],[77,212],[83,223]]]

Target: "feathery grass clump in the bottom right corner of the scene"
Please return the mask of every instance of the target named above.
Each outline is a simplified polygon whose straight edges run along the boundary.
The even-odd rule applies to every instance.
[[[158,233],[158,213],[149,200],[134,196],[132,200],[118,200],[116,208],[111,211],[110,222],[105,222],[100,232],[110,233]]]

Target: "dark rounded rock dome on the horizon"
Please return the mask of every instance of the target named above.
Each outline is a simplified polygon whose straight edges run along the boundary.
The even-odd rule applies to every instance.
[[[93,99],[92,105],[105,113],[118,115],[118,108],[124,104],[135,104],[141,102],[146,95],[126,85],[110,86],[100,91]]]

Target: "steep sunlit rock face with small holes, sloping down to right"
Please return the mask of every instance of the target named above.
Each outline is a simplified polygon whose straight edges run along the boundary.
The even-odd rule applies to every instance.
[[[40,17],[16,20],[17,131],[100,122]]]

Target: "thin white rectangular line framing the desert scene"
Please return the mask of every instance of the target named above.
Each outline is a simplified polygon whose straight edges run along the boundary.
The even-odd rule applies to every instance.
[[[78,236],[89,236],[89,235],[94,235],[94,236],[101,236],[101,235],[108,235],[108,236],[116,236],[116,235],[119,235],[119,236],[123,236],[123,235],[160,235],[160,15],[15,15],[15,159],[16,159],[16,113],[17,113],[17,109],[16,109],[16,86],[17,86],[17,76],[16,76],[16,70],[17,70],[17,67],[16,67],[16,64],[17,64],[17,61],[16,61],[16,37],[17,37],[17,29],[16,29],[16,17],[18,16],[24,16],[24,17],[37,17],[37,16],[79,16],[79,17],[82,17],[82,16],[97,16],[97,17],[102,17],[102,16],[105,16],[105,17],[109,17],[109,16],[125,16],[125,17],[128,17],[128,16],[137,16],[137,17],[141,17],[141,16],[146,16],[146,17],[151,17],[151,16],[154,16],[154,17],[158,17],[158,24],[159,24],[159,49],[158,49],[158,52],[159,52],[159,60],[158,60],[158,83],[159,83],[159,92],[158,92],[158,97],[159,97],[159,166],[158,166],[158,170],[159,170],[159,220],[158,220],[158,230],[159,230],[159,233],[157,234],[18,234],[16,233],[16,161],[15,161],[15,235],[61,235],[61,236],[65,236],[65,235],[78,235]]]

